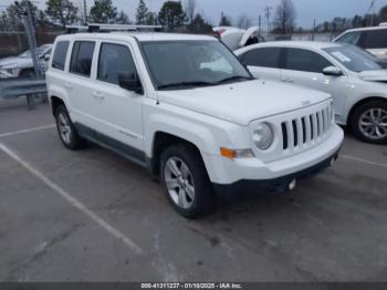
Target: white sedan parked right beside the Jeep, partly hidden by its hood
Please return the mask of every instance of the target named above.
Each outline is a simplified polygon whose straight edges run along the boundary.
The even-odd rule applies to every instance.
[[[236,51],[257,77],[332,94],[336,122],[369,143],[387,143],[387,71],[367,52],[328,42],[271,42]]]

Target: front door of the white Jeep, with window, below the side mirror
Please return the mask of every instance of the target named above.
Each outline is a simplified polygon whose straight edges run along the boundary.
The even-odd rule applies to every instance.
[[[118,74],[137,74],[130,46],[126,43],[101,42],[96,81],[92,89],[97,131],[111,147],[140,159],[143,143],[144,95],[118,85]]]

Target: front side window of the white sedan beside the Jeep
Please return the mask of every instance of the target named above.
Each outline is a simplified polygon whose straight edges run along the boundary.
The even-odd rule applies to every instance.
[[[285,69],[292,71],[322,73],[332,63],[310,50],[286,49]]]

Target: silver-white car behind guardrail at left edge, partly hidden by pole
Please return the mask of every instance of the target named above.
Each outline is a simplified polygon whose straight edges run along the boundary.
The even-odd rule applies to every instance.
[[[50,59],[52,44],[43,44],[38,48],[38,55],[41,65],[46,69],[46,62]],[[18,56],[11,56],[0,60],[0,79],[9,77],[31,77],[35,75],[31,51],[25,51]]]

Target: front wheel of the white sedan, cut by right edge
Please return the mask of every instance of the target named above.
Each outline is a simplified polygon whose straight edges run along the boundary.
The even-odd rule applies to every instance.
[[[387,143],[387,102],[372,101],[357,107],[352,118],[355,136],[374,144]]]

